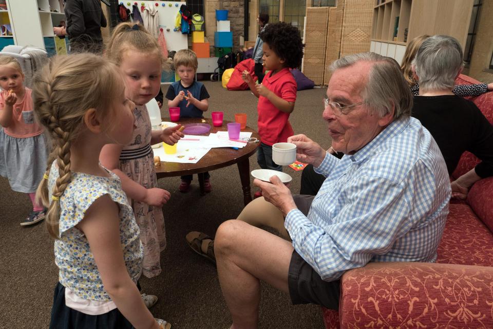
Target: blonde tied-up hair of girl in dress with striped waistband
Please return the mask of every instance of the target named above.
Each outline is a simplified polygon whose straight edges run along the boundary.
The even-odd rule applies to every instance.
[[[162,69],[171,70],[171,60],[163,58],[161,47],[154,36],[150,35],[140,24],[120,23],[113,30],[106,45],[106,56],[115,64],[120,65],[125,51],[129,49],[153,54],[159,58]]]

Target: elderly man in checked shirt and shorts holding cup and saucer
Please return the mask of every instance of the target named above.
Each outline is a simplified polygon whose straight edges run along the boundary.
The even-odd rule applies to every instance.
[[[263,197],[216,233],[232,328],[257,327],[260,280],[289,293],[293,304],[337,309],[345,271],[437,258],[450,183],[437,143],[410,117],[412,96],[399,64],[360,53],[332,69],[323,118],[332,148],[345,155],[338,159],[305,135],[288,139],[298,160],[327,177],[318,194],[293,196],[276,176],[255,179]],[[290,241],[249,224],[276,222]]]

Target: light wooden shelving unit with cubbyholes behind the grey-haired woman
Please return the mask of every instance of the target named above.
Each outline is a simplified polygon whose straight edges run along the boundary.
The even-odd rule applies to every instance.
[[[407,43],[422,34],[451,35],[464,48],[473,0],[373,0],[370,51],[401,63]]]

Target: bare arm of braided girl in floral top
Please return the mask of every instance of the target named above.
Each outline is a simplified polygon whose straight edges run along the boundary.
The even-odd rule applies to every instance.
[[[118,213],[115,202],[104,195],[89,207],[76,227],[86,236],[104,289],[123,316],[136,328],[159,328],[125,267]]]

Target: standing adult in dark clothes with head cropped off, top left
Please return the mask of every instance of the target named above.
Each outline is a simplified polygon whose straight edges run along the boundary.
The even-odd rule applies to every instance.
[[[106,18],[100,0],[64,0],[66,26],[53,27],[58,36],[68,36],[70,52],[103,52],[101,27]]]

